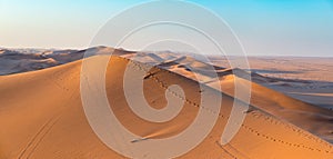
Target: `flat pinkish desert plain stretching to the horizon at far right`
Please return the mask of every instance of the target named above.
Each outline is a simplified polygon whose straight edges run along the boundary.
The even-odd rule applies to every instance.
[[[212,56],[210,59],[214,64],[228,67],[228,60],[223,57]],[[252,72],[270,79],[258,83],[292,98],[333,109],[333,96],[331,96],[333,58],[249,57],[248,59]],[[263,79],[262,77],[260,79]]]

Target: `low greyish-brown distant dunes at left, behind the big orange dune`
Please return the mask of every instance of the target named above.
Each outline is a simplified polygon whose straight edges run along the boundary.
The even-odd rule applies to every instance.
[[[95,56],[111,51],[114,54],[119,53],[119,50],[109,47],[93,47],[84,50],[0,49],[0,76],[41,70],[77,61],[83,58],[84,52]],[[122,54],[130,53],[125,50],[120,51]]]

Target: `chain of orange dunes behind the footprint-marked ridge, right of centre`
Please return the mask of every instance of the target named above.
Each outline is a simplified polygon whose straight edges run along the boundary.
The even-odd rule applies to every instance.
[[[145,57],[147,58],[147,57]],[[145,58],[135,58],[135,60],[144,62]],[[157,61],[158,62],[158,61]],[[222,67],[213,67],[219,81],[210,81],[210,68],[208,63],[198,61],[190,57],[181,57],[173,61],[161,63],[158,67],[170,70],[186,78],[196,80],[199,77],[208,86],[214,88],[214,86],[221,86],[224,93],[234,97],[234,80],[238,79],[246,86],[252,86],[251,91],[251,105],[256,109],[261,109],[274,117],[286,120],[295,126],[299,126],[306,131],[310,131],[329,142],[333,142],[333,112],[317,106],[312,106],[306,102],[293,99],[283,93],[269,89],[266,85],[275,82],[302,82],[292,79],[279,79],[272,77],[264,77],[255,72],[248,72],[241,69],[230,69]],[[195,72],[195,73],[194,73]],[[251,76],[251,81],[248,77]],[[304,83],[311,83],[311,81],[303,81]],[[326,93],[325,93],[326,95]],[[322,95],[322,96],[325,96]],[[330,95],[327,95],[331,97]],[[268,98],[270,97],[270,98]],[[320,127],[319,127],[320,126]]]

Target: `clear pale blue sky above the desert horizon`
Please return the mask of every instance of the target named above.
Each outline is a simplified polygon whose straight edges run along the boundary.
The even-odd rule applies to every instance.
[[[333,57],[333,0],[189,1],[224,19],[249,56]],[[108,20],[142,2],[0,0],[0,47],[83,49]]]

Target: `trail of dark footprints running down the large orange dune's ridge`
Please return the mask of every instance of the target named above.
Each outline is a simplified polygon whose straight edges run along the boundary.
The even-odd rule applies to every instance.
[[[137,62],[137,61],[132,61],[132,60],[130,60],[130,59],[125,59],[125,58],[122,58],[122,57],[118,57],[118,58],[120,58],[120,59],[123,59],[123,60],[125,60],[125,61],[128,61],[128,62],[131,62],[131,63],[133,63],[133,66],[135,66],[135,68],[138,68],[139,70],[141,70],[141,71],[145,71],[145,72],[149,72],[149,70],[144,70],[141,66],[143,64],[144,66],[144,63],[141,63],[141,62]],[[133,67],[134,68],[134,67]],[[163,69],[160,69],[160,68],[157,68],[158,70],[163,70]],[[164,70],[165,72],[170,72],[170,71],[167,71],[167,70]],[[158,82],[158,83],[160,83],[159,86],[160,87],[162,87],[163,89],[165,89],[167,91],[168,91],[168,87],[167,87],[167,83],[164,82],[164,81],[162,81],[162,80],[160,80],[158,77],[155,77],[155,74],[157,73],[154,73],[154,74],[151,74],[151,78],[153,78],[153,79],[155,79],[154,81],[155,82]],[[172,95],[178,95],[176,92],[173,92]],[[178,95],[178,96],[175,96],[175,97],[181,97],[180,95]],[[185,98],[184,97],[181,97],[181,99],[182,100],[184,100]],[[192,106],[194,106],[194,107],[196,107],[196,108],[200,108],[200,105],[198,105],[198,103],[195,103],[195,102],[193,102],[193,101],[190,101],[190,100],[188,100],[188,99],[185,99],[185,102],[188,101],[188,103],[189,105],[192,105]],[[195,105],[194,105],[195,103]],[[202,108],[202,107],[201,107]],[[209,108],[204,108],[204,110],[210,110]],[[210,111],[210,112],[212,112],[212,113],[218,113],[218,112],[214,112],[214,111]],[[220,112],[218,113],[218,115],[221,115]],[[221,115],[222,116],[222,115]],[[219,116],[219,117],[221,117],[221,116]],[[223,116],[222,116],[222,118],[224,118]],[[228,119],[229,119],[230,117],[228,117]],[[266,119],[270,119],[271,121],[273,121],[274,120],[274,118],[272,118],[272,117],[266,117]],[[276,119],[275,119],[275,121],[276,121]],[[276,121],[276,123],[282,123],[282,125],[284,125],[284,126],[286,126],[286,128],[290,128],[290,130],[292,130],[292,131],[295,131],[295,132],[299,132],[299,131],[296,131],[296,129],[294,129],[294,128],[292,128],[291,126],[287,126],[286,123],[284,123],[284,122],[281,122],[281,121]],[[264,135],[264,133],[260,133],[259,132],[259,130],[256,130],[256,129],[254,129],[254,128],[252,128],[252,127],[250,127],[250,126],[246,126],[246,125],[244,125],[244,123],[242,123],[241,125],[243,128],[245,128],[245,130],[249,130],[250,132],[253,132],[253,133],[256,133],[259,137],[262,137],[262,138],[265,138],[265,139],[270,139],[271,141],[278,141],[278,142],[281,142],[281,143],[284,143],[284,145],[287,145],[287,146],[294,146],[294,147],[301,147],[301,148],[304,148],[304,149],[309,149],[309,150],[316,150],[316,151],[319,151],[319,152],[326,152],[326,153],[333,153],[333,151],[329,151],[329,150],[320,150],[320,149],[316,149],[316,148],[312,148],[312,147],[307,147],[307,146],[304,146],[304,145],[302,145],[302,143],[291,143],[291,142],[289,142],[289,141],[284,141],[284,140],[281,140],[281,139],[276,139],[276,138],[274,138],[274,137],[271,137],[271,136],[268,136],[268,135]],[[300,133],[299,132],[299,135],[303,135],[303,136],[305,136],[304,133]],[[309,137],[309,136],[306,136],[306,137]],[[319,141],[319,139],[316,140],[316,138],[311,138],[312,140],[314,140],[314,141]],[[321,140],[320,140],[321,141]],[[322,142],[322,143],[325,143],[326,146],[330,146],[329,143],[326,143],[326,142]],[[331,148],[331,146],[330,146],[330,148]]]

